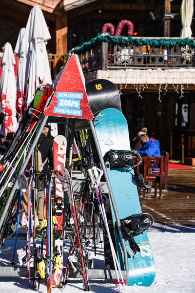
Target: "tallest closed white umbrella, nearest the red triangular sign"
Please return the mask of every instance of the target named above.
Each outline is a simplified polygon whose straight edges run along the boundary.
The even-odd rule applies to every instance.
[[[31,9],[23,38],[28,43],[28,52],[21,116],[24,115],[27,103],[32,100],[39,85],[39,77],[44,84],[52,83],[46,50],[46,43],[51,36],[39,5]]]

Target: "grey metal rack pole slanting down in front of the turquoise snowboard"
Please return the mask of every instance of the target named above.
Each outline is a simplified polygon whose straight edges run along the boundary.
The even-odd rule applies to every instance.
[[[96,145],[96,148],[97,148],[97,151],[98,151],[98,157],[99,157],[99,161],[100,161],[103,173],[104,173],[105,181],[106,181],[106,183],[108,185],[108,189],[109,189],[109,192],[110,192],[110,198],[111,198],[111,202],[112,202],[112,205],[113,205],[113,209],[114,209],[115,217],[116,217],[116,221],[117,221],[118,233],[119,233],[120,240],[121,240],[122,251],[124,253],[124,264],[125,264],[125,271],[126,271],[126,274],[127,274],[126,279],[128,279],[129,268],[128,268],[127,249],[126,249],[124,237],[123,237],[122,232],[120,230],[121,224],[120,224],[120,218],[119,218],[119,215],[118,215],[115,198],[114,198],[114,195],[113,195],[110,180],[108,178],[108,173],[107,173],[105,163],[104,163],[104,160],[103,160],[103,156],[102,156],[102,153],[101,153],[101,149],[100,149],[100,146],[99,146],[98,137],[97,137],[97,134],[96,134],[96,131],[95,131],[93,120],[89,120],[89,124],[90,124],[90,127],[91,127],[92,135],[94,137],[94,142],[95,142],[95,145]]]

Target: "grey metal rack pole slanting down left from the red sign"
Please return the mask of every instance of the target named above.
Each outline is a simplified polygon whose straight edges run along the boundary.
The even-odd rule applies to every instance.
[[[31,155],[32,155],[32,153],[33,153],[33,150],[34,150],[34,148],[35,148],[35,146],[36,146],[36,144],[37,144],[37,141],[38,141],[38,139],[39,139],[39,136],[40,136],[40,134],[41,134],[41,132],[42,132],[42,129],[43,129],[45,123],[47,122],[47,119],[48,119],[48,116],[45,116],[45,117],[43,118],[43,120],[42,120],[40,126],[38,126],[37,135],[36,135],[36,137],[35,137],[35,139],[34,139],[32,145],[31,145],[31,147],[30,147],[30,149],[29,149],[29,152],[28,152],[28,154],[27,154],[27,156],[26,156],[26,159],[25,159],[25,161],[24,161],[24,163],[23,163],[23,165],[22,165],[22,167],[21,167],[20,173],[19,173],[19,175],[18,175],[18,178],[19,178],[19,179],[20,179],[20,175],[25,171],[25,168],[26,168],[26,166],[28,165],[28,162],[29,162],[29,160],[30,160],[30,158],[31,158]],[[14,184],[13,184],[12,190],[11,190],[10,195],[9,195],[9,198],[8,198],[8,200],[7,200],[7,202],[6,202],[6,205],[5,205],[5,208],[4,208],[4,210],[3,210],[2,216],[0,217],[0,229],[1,229],[2,225],[3,225],[4,219],[5,219],[5,217],[6,217],[7,210],[8,210],[8,208],[9,208],[11,202],[12,202],[12,199],[13,199],[13,197],[14,197],[14,193],[15,193],[17,187],[18,187],[18,178],[15,180],[15,182],[14,182]]]

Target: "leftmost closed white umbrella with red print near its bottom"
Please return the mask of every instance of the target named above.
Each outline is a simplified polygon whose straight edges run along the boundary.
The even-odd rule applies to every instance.
[[[2,57],[2,75],[0,83],[0,97],[2,112],[5,115],[0,126],[0,134],[6,135],[9,132],[16,132],[16,77],[14,72],[14,52],[9,42],[5,43],[5,50]]]

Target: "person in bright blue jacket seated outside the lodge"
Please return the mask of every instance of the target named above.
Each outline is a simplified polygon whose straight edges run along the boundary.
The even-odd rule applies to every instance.
[[[140,137],[143,143],[143,150],[137,151],[141,156],[160,157],[160,143],[159,140],[149,137],[147,134],[142,134]]]

